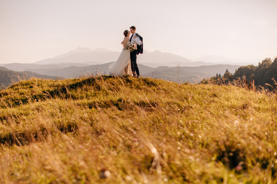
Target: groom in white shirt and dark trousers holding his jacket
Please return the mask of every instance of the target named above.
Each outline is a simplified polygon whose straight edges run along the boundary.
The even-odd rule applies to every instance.
[[[136,27],[131,26],[130,27],[130,32],[132,33],[132,36],[130,37],[130,42],[131,44],[141,45],[142,42],[139,39],[138,33],[136,33]],[[133,52],[130,52],[130,58],[131,58],[131,69],[134,77],[139,77],[139,67],[137,65],[137,50],[133,50]],[[136,75],[137,73],[137,75]]]

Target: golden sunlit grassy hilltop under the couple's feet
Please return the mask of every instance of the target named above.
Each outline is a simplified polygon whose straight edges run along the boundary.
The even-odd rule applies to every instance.
[[[0,183],[277,182],[274,93],[98,76],[0,98]]]

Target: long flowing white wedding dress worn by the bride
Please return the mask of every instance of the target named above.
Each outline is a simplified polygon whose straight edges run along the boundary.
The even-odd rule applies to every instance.
[[[123,49],[122,52],[120,53],[118,59],[110,65],[110,67],[109,67],[110,75],[121,75],[121,76],[124,75],[125,67],[127,65],[128,65],[128,73],[127,74],[132,75],[130,50]]]

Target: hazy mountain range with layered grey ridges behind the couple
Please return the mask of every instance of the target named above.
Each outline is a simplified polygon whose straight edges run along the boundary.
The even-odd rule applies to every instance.
[[[109,51],[106,48],[90,49],[76,48],[75,50],[43,59],[35,63],[1,64],[13,71],[31,71],[40,75],[75,78],[82,75],[108,74],[108,67],[114,62],[120,52]],[[207,62],[204,62],[207,61]],[[186,59],[184,57],[155,50],[144,51],[139,54],[137,63],[142,76],[162,78],[166,80],[179,80],[195,82],[199,79],[210,78],[217,73],[224,74],[228,69],[231,73],[235,69],[250,64],[251,61],[233,63],[234,59],[223,56],[205,56],[199,59]],[[251,64],[260,60],[253,60]],[[248,63],[247,63],[248,62]]]

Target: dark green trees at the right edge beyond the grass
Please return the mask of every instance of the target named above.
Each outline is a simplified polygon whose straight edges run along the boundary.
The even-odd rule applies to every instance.
[[[258,66],[253,64],[241,66],[231,74],[226,69],[223,76],[216,74],[210,79],[203,79],[201,83],[228,83],[234,80],[241,80],[244,83],[255,85],[256,88],[276,89],[277,83],[277,57],[275,59],[266,58]]]

